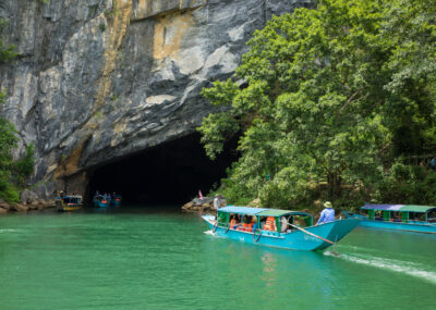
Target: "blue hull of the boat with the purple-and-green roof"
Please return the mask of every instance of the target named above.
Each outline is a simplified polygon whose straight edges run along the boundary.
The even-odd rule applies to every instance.
[[[361,220],[360,225],[363,227],[436,234],[436,224],[426,224],[424,222],[420,224],[420,223],[376,221],[376,220],[368,220],[367,216],[362,214],[354,214],[346,211],[342,211],[342,213],[347,216],[347,219]]]

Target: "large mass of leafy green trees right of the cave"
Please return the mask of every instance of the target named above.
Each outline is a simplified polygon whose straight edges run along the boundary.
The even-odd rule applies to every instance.
[[[228,108],[198,128],[207,154],[241,135],[219,190],[281,208],[436,203],[435,173],[401,161],[436,142],[435,16],[432,0],[322,0],[268,22],[235,78],[203,90]]]

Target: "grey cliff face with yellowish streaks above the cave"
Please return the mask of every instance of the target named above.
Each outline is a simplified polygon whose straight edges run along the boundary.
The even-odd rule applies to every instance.
[[[82,193],[97,164],[195,131],[199,91],[230,77],[272,14],[313,0],[7,0],[1,113],[37,149],[33,183]]]

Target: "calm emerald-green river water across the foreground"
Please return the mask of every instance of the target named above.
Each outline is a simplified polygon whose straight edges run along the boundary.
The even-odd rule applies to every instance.
[[[0,216],[0,309],[436,309],[436,235],[356,228],[335,257],[206,231],[162,207]]]

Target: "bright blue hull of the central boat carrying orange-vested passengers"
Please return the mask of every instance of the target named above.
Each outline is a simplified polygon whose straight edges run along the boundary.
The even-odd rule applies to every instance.
[[[253,233],[250,232],[227,230],[226,227],[214,227],[215,218],[213,215],[203,215],[202,218],[205,220],[210,230],[216,228],[216,235],[247,244],[306,251],[323,250],[331,246],[331,244],[301,231],[292,231],[291,233],[261,231],[262,235],[256,241],[255,237],[257,237],[258,233],[253,236]],[[318,226],[306,227],[304,230],[325,239],[339,241],[352,230],[354,230],[359,225],[359,220],[354,219],[338,220],[335,222],[320,224]]]

